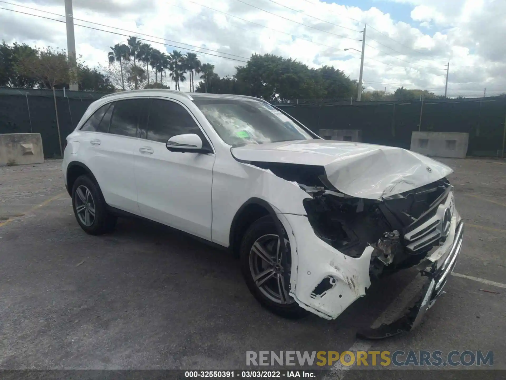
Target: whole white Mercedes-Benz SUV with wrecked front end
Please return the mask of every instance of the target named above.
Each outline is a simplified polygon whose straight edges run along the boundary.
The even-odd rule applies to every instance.
[[[371,281],[416,267],[427,282],[410,314],[368,334],[409,330],[462,244],[449,167],[321,139],[261,99],[111,94],[66,140],[65,185],[84,231],[110,233],[133,215],[227,247],[251,293],[284,316],[334,319]]]

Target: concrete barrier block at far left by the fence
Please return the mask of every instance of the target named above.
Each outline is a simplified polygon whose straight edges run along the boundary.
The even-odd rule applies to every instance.
[[[40,133],[0,134],[0,166],[43,162],[44,149]]]

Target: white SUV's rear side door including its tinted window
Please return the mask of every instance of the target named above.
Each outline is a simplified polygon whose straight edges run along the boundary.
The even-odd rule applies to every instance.
[[[106,203],[134,214],[139,214],[134,150],[141,140],[138,126],[146,118],[148,101],[147,98],[126,99],[110,103],[97,132],[86,133],[82,141],[87,146],[85,162],[97,179]]]

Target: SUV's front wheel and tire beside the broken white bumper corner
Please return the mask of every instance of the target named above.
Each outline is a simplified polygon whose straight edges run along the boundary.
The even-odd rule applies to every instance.
[[[279,233],[276,224],[271,216],[264,216],[252,223],[244,234],[239,259],[246,285],[260,304],[277,315],[296,319],[307,315],[307,311],[288,295],[291,254],[288,240],[285,236],[283,239],[288,251],[286,258],[277,255],[282,250],[277,248]],[[266,257],[264,252],[272,254],[270,263],[262,258]]]

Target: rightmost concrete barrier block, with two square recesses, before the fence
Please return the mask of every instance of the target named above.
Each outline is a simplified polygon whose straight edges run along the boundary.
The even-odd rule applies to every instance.
[[[431,157],[466,158],[469,133],[412,132],[411,150]]]

